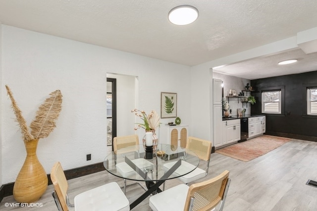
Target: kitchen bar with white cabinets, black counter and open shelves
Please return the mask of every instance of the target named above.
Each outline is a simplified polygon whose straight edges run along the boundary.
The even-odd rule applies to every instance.
[[[238,95],[232,89],[224,89],[225,84],[221,79],[213,79],[213,146],[215,150],[246,141],[265,132],[265,115],[251,115],[251,104],[256,102],[251,102],[248,98],[252,96],[251,92],[254,90],[249,90],[248,83],[245,83],[246,87],[243,86],[243,82],[240,84],[239,89],[236,88],[241,90]],[[233,85],[230,84],[231,86]]]

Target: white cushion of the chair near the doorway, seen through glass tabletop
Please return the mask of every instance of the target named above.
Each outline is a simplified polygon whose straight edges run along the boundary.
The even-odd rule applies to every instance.
[[[139,169],[153,169],[153,164],[144,158],[134,159],[132,160],[132,163],[134,163]],[[123,177],[129,177],[136,173],[136,171],[125,162],[118,163],[115,167]]]

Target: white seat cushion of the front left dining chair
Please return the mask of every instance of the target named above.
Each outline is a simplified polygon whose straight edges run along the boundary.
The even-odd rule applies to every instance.
[[[130,211],[129,200],[116,182],[78,194],[75,211]]]

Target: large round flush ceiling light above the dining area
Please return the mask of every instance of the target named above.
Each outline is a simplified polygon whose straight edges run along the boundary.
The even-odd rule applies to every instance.
[[[168,13],[168,20],[175,25],[187,25],[198,18],[198,10],[190,5],[176,6]]]

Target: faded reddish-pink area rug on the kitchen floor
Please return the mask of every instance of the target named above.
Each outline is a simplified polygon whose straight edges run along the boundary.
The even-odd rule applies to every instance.
[[[218,149],[215,152],[248,162],[276,149],[290,140],[292,139],[272,135],[261,135],[244,142]]]

